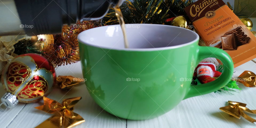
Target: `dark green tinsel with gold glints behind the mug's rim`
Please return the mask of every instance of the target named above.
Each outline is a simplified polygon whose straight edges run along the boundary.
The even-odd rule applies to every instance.
[[[183,8],[194,0],[133,0],[120,6],[125,23],[165,24],[166,19],[186,15]],[[102,19],[103,25],[118,24],[114,9]]]

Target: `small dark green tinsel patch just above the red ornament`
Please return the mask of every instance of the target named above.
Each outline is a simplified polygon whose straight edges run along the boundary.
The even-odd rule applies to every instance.
[[[34,43],[32,43],[30,40],[27,39],[23,39],[21,41],[19,41],[18,43],[16,43],[14,45],[14,53],[17,55],[21,55],[21,54],[26,54],[26,53],[37,53],[37,54],[41,54],[41,50],[34,45]]]

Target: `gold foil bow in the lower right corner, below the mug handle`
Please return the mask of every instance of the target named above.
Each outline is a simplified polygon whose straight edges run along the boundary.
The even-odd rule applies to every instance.
[[[256,114],[256,110],[250,110],[245,106],[246,106],[245,103],[228,101],[228,106],[221,107],[219,109],[229,115],[232,115],[232,116],[238,118],[238,119],[240,119],[241,118],[240,116],[242,116],[243,118],[245,118],[246,120],[248,120],[252,123],[256,122],[255,119],[253,119],[249,115],[245,114],[245,112]]]

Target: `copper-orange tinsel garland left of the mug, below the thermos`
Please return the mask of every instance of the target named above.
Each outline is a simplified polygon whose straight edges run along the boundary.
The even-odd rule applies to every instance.
[[[62,34],[54,35],[54,43],[43,47],[43,56],[56,66],[80,61],[77,35],[84,30],[101,26],[100,21],[78,21],[73,26],[63,26]]]

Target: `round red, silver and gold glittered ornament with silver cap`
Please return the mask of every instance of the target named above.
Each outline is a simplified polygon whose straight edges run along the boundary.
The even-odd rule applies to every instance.
[[[36,102],[51,92],[55,82],[54,66],[46,58],[33,53],[18,55],[3,71],[2,84],[7,93],[1,101],[7,107]]]

